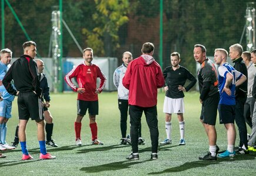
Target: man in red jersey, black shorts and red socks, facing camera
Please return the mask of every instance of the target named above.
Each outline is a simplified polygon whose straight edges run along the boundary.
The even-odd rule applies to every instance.
[[[92,132],[92,144],[103,145],[98,140],[98,127],[96,123],[96,115],[98,115],[98,93],[102,92],[105,87],[106,77],[101,69],[92,63],[94,59],[93,50],[91,48],[84,49],[84,62],[80,63],[68,75],[65,76],[65,81],[71,87],[72,90],[78,93],[77,97],[77,119],[75,120],[75,137],[76,144],[82,145],[81,142],[81,126],[82,118],[89,111],[89,126]],[[77,78],[78,87],[76,87],[71,79]],[[101,83],[97,88],[97,77],[101,79]]]

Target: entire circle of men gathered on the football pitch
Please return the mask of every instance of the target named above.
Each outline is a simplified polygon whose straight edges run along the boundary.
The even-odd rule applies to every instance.
[[[42,60],[36,60],[37,65],[34,62],[34,57],[36,56],[35,42],[25,42],[23,48],[24,55],[12,64],[2,80],[6,91],[13,96],[18,96],[19,126],[16,133],[18,133],[22,148],[22,160],[31,160],[33,158],[26,149],[25,128],[30,117],[36,121],[38,127],[38,141],[41,152],[39,158],[54,159],[56,157],[47,153],[45,147],[45,144],[53,147],[58,147],[58,145],[51,139],[53,124],[51,113],[47,109],[50,100],[49,89],[46,90],[48,93],[44,94],[46,102],[41,103],[44,100],[42,99],[43,87],[40,86],[40,81],[43,79],[42,76],[44,77],[42,75],[44,63]],[[217,109],[220,114],[220,123],[224,124],[227,130],[228,140],[227,150],[220,153],[218,157],[233,157],[234,154],[247,154],[249,150],[254,151],[256,140],[256,78],[254,67],[254,64],[256,64],[256,50],[249,52],[251,54],[249,55],[248,52],[242,53],[242,46],[239,44],[230,46],[230,58],[235,63],[234,67],[232,67],[227,63],[227,50],[215,49],[214,61],[219,65],[218,73],[214,63],[208,59],[206,51],[203,45],[197,44],[194,46],[194,59],[200,63],[200,69],[198,70],[200,103],[202,104],[200,120],[205,128],[210,145],[209,152],[199,157],[199,159],[217,160],[217,154],[220,150],[216,144],[217,132],[215,123]],[[132,153],[127,157],[128,160],[139,159],[138,144],[145,144],[141,138],[141,117],[144,112],[151,137],[151,159],[156,160],[158,159],[159,137],[157,89],[164,87],[166,91],[163,111],[165,113],[167,139],[160,144],[172,143],[171,115],[176,113],[181,134],[179,145],[185,145],[184,92],[190,90],[197,80],[185,67],[179,65],[181,57],[178,52],[171,53],[171,66],[166,67],[164,72],[162,72],[161,67],[153,57],[153,43],[144,43],[141,52],[142,55],[134,60],[132,60],[130,52],[125,52],[122,57],[124,64],[118,67],[114,73],[114,84],[118,88],[118,108],[121,114],[121,144],[128,143],[132,146]],[[74,67],[65,76],[67,84],[78,93],[77,118],[74,123],[75,142],[77,145],[82,145],[81,121],[88,110],[92,144],[103,145],[104,143],[99,141],[97,136],[96,115],[98,114],[98,94],[104,89],[106,77],[101,69],[92,63],[93,50],[91,48],[84,49],[83,58],[84,62]],[[73,77],[77,79],[78,86],[72,83],[71,79]],[[98,77],[101,80],[99,87],[97,87]],[[249,78],[248,84],[247,77]],[[15,87],[11,84],[12,80],[14,80]],[[189,80],[190,83],[184,87],[186,80]],[[48,85],[45,88],[47,87]],[[43,107],[44,113],[42,111]],[[244,107],[246,107],[246,111],[244,111]],[[8,114],[8,111],[10,110],[6,110],[6,114]],[[128,112],[131,141],[126,137]],[[45,120],[46,123],[49,121],[48,129],[51,129],[47,141],[45,141],[44,114],[49,117]],[[0,114],[1,116],[4,115]],[[8,119],[7,115],[6,119]],[[1,118],[0,120],[2,121]],[[4,119],[4,121],[7,120]],[[234,148],[236,137],[234,121],[237,123],[240,134],[240,145],[236,149]],[[245,121],[252,128],[249,143],[247,143]],[[1,131],[4,131],[4,128],[0,127]],[[18,145],[16,142],[15,144]],[[2,145],[4,146],[4,144]],[[1,154],[0,157],[4,158],[5,155]]]

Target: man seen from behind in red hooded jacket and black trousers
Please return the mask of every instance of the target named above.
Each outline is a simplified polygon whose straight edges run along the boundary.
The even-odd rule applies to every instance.
[[[164,86],[161,67],[153,56],[153,43],[144,43],[142,55],[129,63],[122,83],[129,90],[129,115],[131,123],[132,153],[128,160],[139,160],[138,128],[144,111],[150,131],[152,153],[151,159],[158,158],[158,120],[157,120],[157,89]]]

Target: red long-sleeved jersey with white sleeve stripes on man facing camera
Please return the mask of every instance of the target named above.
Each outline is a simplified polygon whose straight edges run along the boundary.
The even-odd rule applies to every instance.
[[[78,87],[85,89],[84,93],[78,93],[78,100],[98,100],[98,94],[95,93],[95,90],[97,89],[97,77],[101,79],[101,83],[99,84],[98,88],[99,92],[102,92],[102,89],[105,87],[106,77],[97,65],[92,63],[92,65],[87,66],[84,62],[82,62],[78,66],[74,67],[74,69],[72,69],[65,76],[65,81],[67,82],[68,86],[70,86],[72,90],[77,92],[78,87],[76,87],[71,80],[73,77],[77,79]]]

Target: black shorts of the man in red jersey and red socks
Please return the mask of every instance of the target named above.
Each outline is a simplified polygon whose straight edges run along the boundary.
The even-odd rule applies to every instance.
[[[89,111],[89,115],[99,114],[99,101],[77,100],[77,114],[84,116]]]

